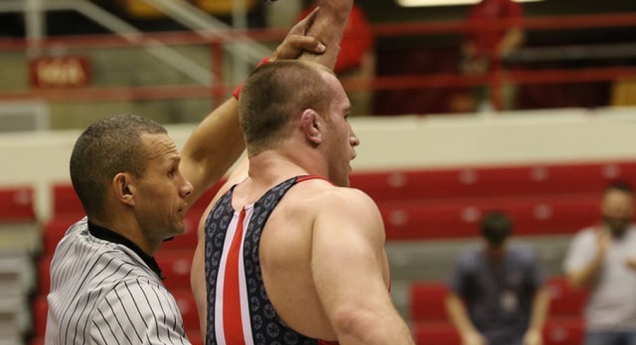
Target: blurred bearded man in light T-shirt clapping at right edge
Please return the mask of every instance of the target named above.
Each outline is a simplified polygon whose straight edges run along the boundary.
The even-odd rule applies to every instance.
[[[602,220],[575,235],[564,271],[573,287],[591,289],[585,345],[636,344],[634,192],[625,182],[604,190]]]

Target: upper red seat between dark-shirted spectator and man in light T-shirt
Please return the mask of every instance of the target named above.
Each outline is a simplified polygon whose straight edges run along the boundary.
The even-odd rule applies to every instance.
[[[574,289],[565,277],[553,277],[547,282],[550,294],[550,315],[552,317],[575,317],[583,315],[588,289]]]

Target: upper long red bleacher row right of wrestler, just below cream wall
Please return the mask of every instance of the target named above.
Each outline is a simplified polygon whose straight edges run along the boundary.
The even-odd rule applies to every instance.
[[[362,172],[351,186],[376,201],[538,194],[598,194],[611,180],[636,182],[636,162],[533,164]]]

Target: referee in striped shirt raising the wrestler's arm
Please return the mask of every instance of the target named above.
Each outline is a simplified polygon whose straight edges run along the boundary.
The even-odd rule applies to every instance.
[[[324,46],[288,35],[271,59],[302,51]],[[208,115],[183,156],[161,125],[135,115],[99,120],[79,136],[70,177],[87,217],[53,255],[45,344],[189,344],[153,254],[184,231],[189,205],[243,151],[237,104]]]

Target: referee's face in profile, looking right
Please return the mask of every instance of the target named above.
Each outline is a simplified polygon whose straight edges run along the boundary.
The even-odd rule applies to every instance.
[[[156,243],[184,231],[192,184],[179,171],[181,156],[167,134],[142,134],[141,140],[146,168],[135,185],[134,209],[144,234]]]

